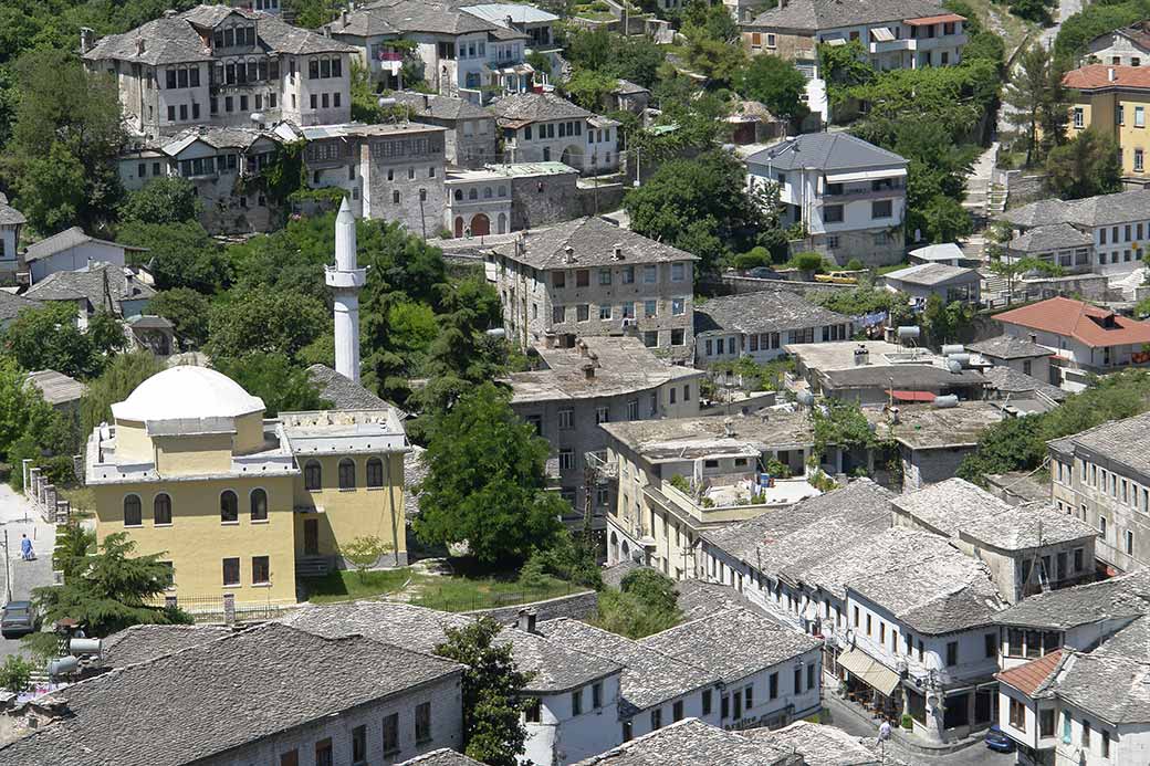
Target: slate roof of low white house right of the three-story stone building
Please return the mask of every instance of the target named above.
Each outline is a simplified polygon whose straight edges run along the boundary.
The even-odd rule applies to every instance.
[[[765,290],[712,298],[695,307],[695,332],[785,332],[808,327],[848,324],[851,317],[816,306],[793,292]]]

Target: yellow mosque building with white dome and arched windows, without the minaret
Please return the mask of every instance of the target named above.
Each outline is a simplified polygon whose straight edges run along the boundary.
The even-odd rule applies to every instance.
[[[393,408],[263,416],[263,400],[205,367],[166,369],[92,432],[85,483],[102,541],[128,533],[170,564],[191,612],[297,600],[300,573],[342,567],[339,546],[378,537],[406,564],[404,453]],[[198,606],[202,605],[202,608]]]

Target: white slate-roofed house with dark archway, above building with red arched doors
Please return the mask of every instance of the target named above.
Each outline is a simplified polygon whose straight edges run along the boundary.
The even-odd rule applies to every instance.
[[[558,160],[582,173],[619,169],[619,123],[554,93],[518,93],[491,105],[508,162]]]

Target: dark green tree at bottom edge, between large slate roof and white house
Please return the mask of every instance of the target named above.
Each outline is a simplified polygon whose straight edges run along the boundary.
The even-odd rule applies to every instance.
[[[463,753],[490,766],[515,766],[527,740],[522,712],[530,699],[523,692],[531,674],[515,667],[511,642],[497,642],[501,630],[491,618],[447,628],[435,653],[465,666]]]

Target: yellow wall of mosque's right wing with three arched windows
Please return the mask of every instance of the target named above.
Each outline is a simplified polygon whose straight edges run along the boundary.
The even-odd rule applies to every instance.
[[[378,457],[384,464],[384,487],[367,487],[367,461]],[[296,553],[304,556],[304,522],[319,521],[319,551],[321,556],[335,556],[337,541],[350,542],[354,537],[374,536],[398,551],[407,550],[404,535],[404,457],[401,454],[348,455],[355,462],[355,489],[339,489],[340,455],[299,455],[300,475],[296,478],[296,505],[319,507],[323,513],[297,513]],[[309,492],[304,488],[305,466],[317,460],[323,472],[323,488]],[[388,472],[388,462],[391,470]],[[389,481],[390,473],[390,481]],[[389,488],[390,484],[390,488]],[[394,508],[394,515],[392,515]]]

